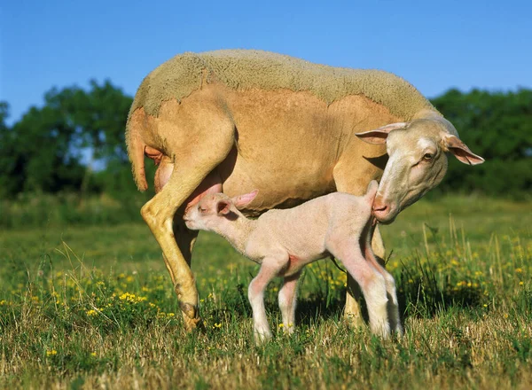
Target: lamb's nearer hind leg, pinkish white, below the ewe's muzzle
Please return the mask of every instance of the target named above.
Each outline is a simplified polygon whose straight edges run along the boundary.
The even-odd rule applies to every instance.
[[[390,333],[390,325],[387,321],[387,291],[384,277],[371,262],[364,259],[357,240],[338,240],[330,245],[329,252],[342,262],[360,286],[368,308],[372,332],[386,339]]]

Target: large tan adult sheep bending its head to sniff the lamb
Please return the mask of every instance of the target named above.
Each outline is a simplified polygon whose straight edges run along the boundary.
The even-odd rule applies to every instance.
[[[365,141],[365,142],[364,142]],[[373,214],[392,222],[442,181],[445,152],[483,160],[408,82],[382,71],[312,64],[265,51],[178,55],[145,77],[126,142],[140,191],[145,156],[159,165],[141,214],[160,244],[184,324],[200,320],[190,268],[197,231],[182,215],[206,193],[259,190],[258,215],[332,191],[362,195],[381,179]],[[388,160],[389,156],[389,160]],[[384,256],[376,230],[375,253]],[[348,279],[345,315],[361,322]]]

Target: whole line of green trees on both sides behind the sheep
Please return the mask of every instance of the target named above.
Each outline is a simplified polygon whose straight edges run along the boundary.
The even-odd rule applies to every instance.
[[[0,102],[0,199],[69,191],[106,193],[116,199],[130,196],[136,187],[124,129],[131,102],[109,81],[91,81],[85,90],[52,88],[42,107],[30,107],[11,126],[6,124],[9,105]],[[432,103],[455,125],[465,144],[486,159],[478,167],[464,168],[451,158],[437,191],[530,193],[532,90],[453,89]]]

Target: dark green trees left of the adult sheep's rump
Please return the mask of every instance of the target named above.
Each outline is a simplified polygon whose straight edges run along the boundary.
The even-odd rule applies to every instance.
[[[12,129],[2,129],[0,195],[20,191],[80,191],[91,171],[87,155],[105,166],[127,154],[124,129],[132,99],[111,82],[90,82],[90,90],[51,89],[42,108],[31,107]],[[7,113],[3,105],[2,115]],[[4,123],[4,120],[3,120]]]

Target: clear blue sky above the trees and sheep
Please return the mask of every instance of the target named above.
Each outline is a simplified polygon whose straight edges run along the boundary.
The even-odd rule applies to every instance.
[[[0,100],[17,121],[51,87],[109,78],[133,95],[183,51],[277,51],[451,87],[532,87],[532,2],[55,1],[0,5]]]

